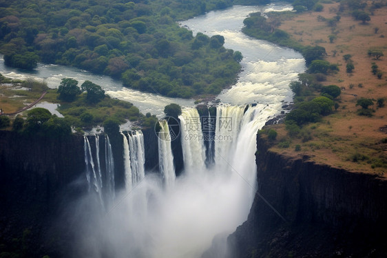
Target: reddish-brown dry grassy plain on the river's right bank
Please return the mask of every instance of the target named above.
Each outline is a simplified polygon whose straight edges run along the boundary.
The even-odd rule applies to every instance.
[[[382,36],[387,37],[387,7],[375,10],[374,15],[370,16],[371,20],[366,24],[355,21],[350,14],[341,14],[335,28],[339,32],[337,39],[330,43],[328,35],[332,34],[331,27],[324,21],[317,21],[317,17],[319,15],[326,19],[335,17],[338,6],[338,3],[324,4],[323,12],[300,14],[290,21],[284,21],[280,26],[281,30],[289,32],[304,46],[323,46],[328,54],[326,60],[337,63],[340,71],[328,76],[322,84],[324,86],[335,84],[344,90],[339,97],[339,108],[335,114],[324,117],[322,123],[307,126],[313,135],[311,141],[303,143],[300,139],[293,139],[290,148],[275,149],[291,156],[308,155],[316,162],[349,171],[386,176],[386,168],[371,166],[375,159],[387,159],[387,144],[381,143],[387,137],[386,130],[382,130],[387,126],[387,103],[384,108],[377,108],[376,105],[377,99],[387,98],[387,41]],[[376,27],[379,28],[377,33],[374,30]],[[368,57],[369,48],[378,48],[386,56],[379,60]],[[344,54],[352,55],[355,69],[351,74],[346,72]],[[381,79],[377,79],[371,72],[373,62],[384,72]],[[351,84],[353,86],[350,87]],[[362,97],[375,100],[373,117],[357,115],[359,106],[355,106],[356,101]],[[279,138],[286,137],[284,128],[278,128],[278,132]],[[301,152],[294,151],[295,144],[302,146]],[[354,162],[355,154],[365,155],[366,158]]]

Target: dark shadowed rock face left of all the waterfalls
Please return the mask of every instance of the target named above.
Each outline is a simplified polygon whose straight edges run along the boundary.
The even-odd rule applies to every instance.
[[[83,137],[0,131],[0,146],[0,243],[6,246],[1,251],[8,251],[12,238],[24,239],[17,248],[41,257],[50,253],[45,233],[59,206],[87,189],[71,185],[85,171]]]

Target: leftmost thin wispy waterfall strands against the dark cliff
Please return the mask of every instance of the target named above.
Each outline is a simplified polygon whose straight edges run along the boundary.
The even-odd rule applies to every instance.
[[[103,205],[103,199],[102,199],[102,178],[101,178],[101,173],[98,174],[99,177],[97,177],[96,174],[96,168],[94,166],[94,161],[93,161],[93,155],[92,155],[92,148],[90,147],[90,142],[87,137],[83,137],[84,139],[84,150],[85,150],[85,166],[86,166],[86,179],[87,183],[89,185],[89,191],[93,188],[96,193],[98,194],[98,197],[101,201],[101,204]],[[96,157],[98,157],[99,153],[96,152]],[[98,159],[98,158],[97,158]],[[98,162],[99,166],[99,162]],[[91,168],[91,170],[90,170]],[[98,167],[98,171],[101,172],[100,168]],[[93,177],[91,178],[90,174],[93,174]]]

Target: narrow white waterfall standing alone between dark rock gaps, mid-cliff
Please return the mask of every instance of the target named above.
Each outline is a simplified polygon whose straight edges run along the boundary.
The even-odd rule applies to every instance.
[[[160,173],[163,175],[165,186],[174,184],[176,174],[174,166],[174,155],[171,148],[171,135],[169,135],[169,127],[166,120],[159,121],[160,132],[158,132],[158,163]]]

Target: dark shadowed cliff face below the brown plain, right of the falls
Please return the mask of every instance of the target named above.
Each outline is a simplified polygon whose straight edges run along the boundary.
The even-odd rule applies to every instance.
[[[259,195],[229,236],[231,257],[386,257],[387,182],[268,151],[258,137]]]

